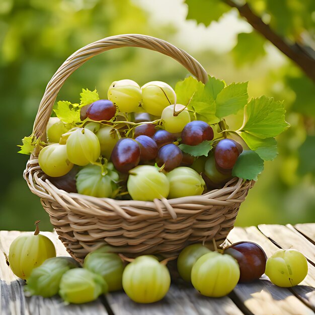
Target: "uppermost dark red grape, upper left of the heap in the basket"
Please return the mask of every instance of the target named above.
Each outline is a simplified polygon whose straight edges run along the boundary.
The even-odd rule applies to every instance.
[[[96,121],[111,120],[116,114],[116,106],[109,100],[98,100],[92,103],[88,110],[87,116]]]

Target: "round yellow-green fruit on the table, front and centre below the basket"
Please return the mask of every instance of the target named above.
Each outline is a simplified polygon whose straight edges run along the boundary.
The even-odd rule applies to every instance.
[[[161,300],[170,284],[168,268],[150,256],[137,257],[126,266],[122,275],[122,286],[126,294],[137,303]]]

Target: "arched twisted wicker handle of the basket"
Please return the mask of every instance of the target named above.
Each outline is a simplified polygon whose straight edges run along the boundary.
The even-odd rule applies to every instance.
[[[107,37],[91,43],[74,52],[64,61],[64,63],[53,75],[46,87],[45,93],[38,108],[33,127],[34,135],[37,137],[43,136],[57,94],[68,76],[70,76],[74,70],[76,70],[93,56],[96,56],[106,50],[119,47],[141,47],[161,52],[181,63],[194,76],[196,76],[199,81],[203,83],[208,81],[206,70],[197,60],[195,60],[184,50],[177,48],[162,39],[138,34],[126,34]]]

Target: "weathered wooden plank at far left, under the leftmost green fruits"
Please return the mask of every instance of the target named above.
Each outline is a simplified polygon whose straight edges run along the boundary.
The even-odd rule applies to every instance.
[[[6,257],[12,241],[20,235],[19,231],[0,231],[0,309],[2,315],[105,315],[108,314],[100,300],[82,305],[65,305],[58,296],[25,297],[24,281],[11,271]],[[44,232],[56,245],[57,255],[68,255],[55,234]]]

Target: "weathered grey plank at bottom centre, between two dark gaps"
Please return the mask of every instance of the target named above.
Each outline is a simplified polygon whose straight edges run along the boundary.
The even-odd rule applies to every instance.
[[[156,303],[138,304],[121,292],[108,294],[107,300],[115,315],[243,314],[228,297],[202,296],[193,287],[178,284],[172,284],[165,298]]]

